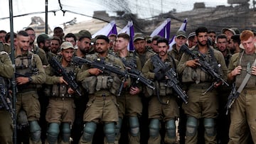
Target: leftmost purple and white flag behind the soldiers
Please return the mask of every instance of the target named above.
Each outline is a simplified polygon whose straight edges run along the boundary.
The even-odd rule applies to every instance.
[[[108,23],[107,26],[105,26],[100,31],[97,31],[94,35],[92,35],[92,38],[95,38],[97,35],[109,36],[111,34],[117,35],[117,26],[115,21],[110,21],[110,23]]]

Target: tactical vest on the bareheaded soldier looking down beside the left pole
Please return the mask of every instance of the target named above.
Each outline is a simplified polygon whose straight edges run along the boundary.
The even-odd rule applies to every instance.
[[[34,54],[28,52],[27,55],[18,56],[15,59],[16,73],[24,74],[28,77],[34,74],[38,74],[35,62],[33,62]],[[35,89],[40,87],[40,84],[21,84],[17,85],[18,92],[24,89]]]

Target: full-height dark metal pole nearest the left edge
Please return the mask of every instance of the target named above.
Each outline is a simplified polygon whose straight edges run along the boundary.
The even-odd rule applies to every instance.
[[[9,15],[10,15],[10,31],[11,31],[11,62],[14,67],[15,72],[15,62],[14,62],[14,13],[13,13],[13,6],[12,6],[12,0],[9,0]],[[14,109],[14,138],[13,142],[14,144],[17,143],[17,131],[16,131],[16,83],[15,83],[15,75],[13,75],[11,79],[11,88],[12,88],[12,96],[13,96],[13,102],[12,106]]]

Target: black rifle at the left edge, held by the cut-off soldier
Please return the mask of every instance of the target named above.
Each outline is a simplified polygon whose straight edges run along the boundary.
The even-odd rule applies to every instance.
[[[4,109],[6,109],[6,111],[9,111],[9,113],[11,113],[11,116],[14,116],[14,110],[11,108],[10,103],[11,101],[8,101],[4,96],[6,96],[6,87],[4,87],[3,84],[0,84],[0,101],[1,101],[1,105],[3,106]]]

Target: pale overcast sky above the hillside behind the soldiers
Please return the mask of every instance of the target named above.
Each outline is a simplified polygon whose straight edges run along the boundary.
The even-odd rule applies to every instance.
[[[75,13],[65,12],[63,16],[63,11],[48,13],[48,24],[50,28],[53,29],[56,26],[62,27],[62,23],[77,18],[77,22],[86,21],[90,19],[93,11],[107,11],[108,13],[113,13],[114,11],[127,11],[131,13],[137,13],[140,18],[150,18],[156,16],[159,13],[166,13],[176,9],[177,12],[190,11],[193,9],[193,4],[195,2],[204,2],[206,7],[214,7],[219,5],[228,6],[228,0],[60,0],[63,9],[68,9],[69,11],[74,11],[75,13],[81,13],[78,15]],[[5,31],[10,31],[9,26],[9,1],[0,0],[1,13],[0,13],[0,29]],[[13,14],[16,15],[26,15],[14,18],[14,31],[20,31],[22,28],[26,27],[31,23],[31,17],[41,16],[45,18],[45,0],[13,0]],[[58,0],[48,0],[48,11],[59,10],[60,6]]]

